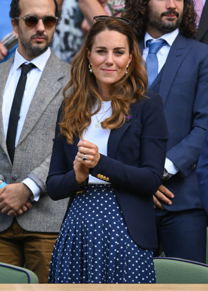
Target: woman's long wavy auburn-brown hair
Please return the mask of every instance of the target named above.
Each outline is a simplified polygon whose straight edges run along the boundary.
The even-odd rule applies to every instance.
[[[98,103],[97,113],[101,108],[101,96],[96,86],[94,74],[89,72],[87,50],[91,52],[96,36],[102,31],[117,31],[127,37],[129,53],[132,53],[132,61],[128,74],[111,85],[110,100],[112,116],[101,122],[103,128],[116,129],[121,127],[130,114],[130,106],[144,94],[148,79],[145,63],[141,57],[137,40],[131,26],[114,17],[108,17],[106,21],[96,22],[87,34],[80,52],[71,64],[71,80],[64,88],[63,114],[60,121],[60,133],[66,136],[67,142],[72,144],[73,137],[83,137],[83,132],[91,123],[91,114],[95,102]],[[115,44],[116,46],[116,44]],[[93,68],[92,68],[93,69]],[[68,89],[71,90],[67,94]],[[95,114],[94,113],[94,114]]]

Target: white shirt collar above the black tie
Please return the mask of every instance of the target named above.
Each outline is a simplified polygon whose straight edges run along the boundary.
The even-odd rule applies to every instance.
[[[32,61],[27,61],[21,54],[18,52],[18,48],[15,52],[15,58],[13,62],[12,74],[21,66],[22,64],[26,63],[33,63],[40,71],[43,72],[45,65],[49,59],[51,54],[51,50],[48,48],[46,52],[42,53],[40,56],[37,56]]]

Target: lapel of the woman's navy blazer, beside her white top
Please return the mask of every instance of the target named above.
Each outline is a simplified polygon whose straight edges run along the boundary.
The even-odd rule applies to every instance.
[[[108,157],[115,158],[116,157],[116,151],[121,139],[121,136],[124,134],[126,129],[132,124],[133,120],[135,119],[137,115],[137,111],[139,109],[139,102],[133,104],[130,108],[130,114],[129,116],[132,116],[129,121],[126,121],[122,127],[119,127],[118,129],[112,129],[110,132],[110,136],[108,138],[107,143],[107,155]]]

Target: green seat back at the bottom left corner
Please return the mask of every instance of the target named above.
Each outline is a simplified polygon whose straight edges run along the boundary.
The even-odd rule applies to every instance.
[[[0,263],[0,283],[37,284],[39,281],[37,276],[28,269]]]

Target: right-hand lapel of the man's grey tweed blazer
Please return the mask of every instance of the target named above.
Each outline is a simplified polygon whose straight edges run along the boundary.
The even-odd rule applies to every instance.
[[[46,109],[47,105],[51,102],[51,100],[55,97],[61,88],[61,84],[58,82],[58,80],[63,77],[66,72],[60,68],[60,63],[56,60],[57,59],[53,52],[51,52],[49,60],[46,63],[32,102],[28,109],[18,144],[21,143],[28,135],[28,133],[33,129],[40,116]]]

